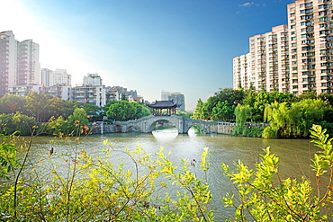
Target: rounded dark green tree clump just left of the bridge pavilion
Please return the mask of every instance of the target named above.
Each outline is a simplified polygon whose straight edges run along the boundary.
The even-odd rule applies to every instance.
[[[135,120],[151,114],[147,106],[138,102],[118,101],[110,105],[106,116],[116,121]]]

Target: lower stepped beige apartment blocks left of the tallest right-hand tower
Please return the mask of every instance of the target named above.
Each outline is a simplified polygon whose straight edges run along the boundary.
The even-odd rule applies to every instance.
[[[234,89],[289,92],[288,43],[286,25],[250,37],[250,52],[233,59]]]

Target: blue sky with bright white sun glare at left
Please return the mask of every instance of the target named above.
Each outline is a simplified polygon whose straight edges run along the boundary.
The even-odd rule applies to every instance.
[[[41,68],[72,85],[98,74],[145,100],[184,93],[186,111],[232,87],[248,38],[287,24],[287,0],[0,0],[0,31],[40,44]]]

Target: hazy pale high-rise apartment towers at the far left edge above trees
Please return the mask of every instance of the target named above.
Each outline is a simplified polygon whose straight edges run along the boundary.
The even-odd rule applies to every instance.
[[[8,87],[40,84],[39,44],[18,41],[13,31],[0,32],[0,97]]]

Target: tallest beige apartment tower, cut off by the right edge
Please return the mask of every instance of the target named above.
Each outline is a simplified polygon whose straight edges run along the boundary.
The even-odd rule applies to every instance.
[[[332,15],[331,0],[288,4],[291,93],[333,93]]]

